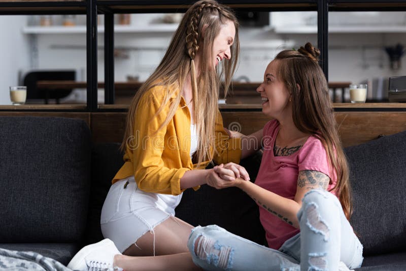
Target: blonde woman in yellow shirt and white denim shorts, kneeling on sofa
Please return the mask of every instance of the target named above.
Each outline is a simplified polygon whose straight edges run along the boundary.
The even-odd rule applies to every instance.
[[[227,90],[238,62],[238,26],[227,7],[212,0],[196,2],[185,13],[162,61],[129,108],[125,163],[100,219],[103,235],[114,244],[105,240],[85,247],[68,267],[197,268],[187,248],[193,227],[175,217],[182,192],[229,182],[234,175],[249,180],[238,162],[256,150],[254,145],[260,147],[229,138],[218,111],[220,79]],[[261,135],[253,134],[258,141]],[[233,174],[220,178],[213,169],[205,170],[211,160],[232,162]]]

